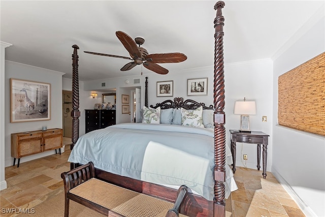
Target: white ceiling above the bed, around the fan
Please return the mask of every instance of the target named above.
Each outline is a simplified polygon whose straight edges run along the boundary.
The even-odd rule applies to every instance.
[[[115,32],[141,36],[151,53],[181,52],[187,60],[159,64],[177,73],[213,66],[217,1],[4,1],[1,41],[6,60],[66,73],[72,78],[72,45],[79,46],[79,79],[153,73],[131,60]],[[224,63],[271,58],[324,1],[224,1]]]

